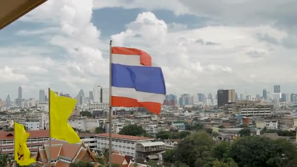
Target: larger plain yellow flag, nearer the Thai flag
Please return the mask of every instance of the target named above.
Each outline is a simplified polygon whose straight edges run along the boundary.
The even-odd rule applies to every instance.
[[[77,101],[72,98],[58,96],[52,90],[50,90],[49,98],[51,137],[65,140],[70,144],[80,143],[80,137],[67,122]]]

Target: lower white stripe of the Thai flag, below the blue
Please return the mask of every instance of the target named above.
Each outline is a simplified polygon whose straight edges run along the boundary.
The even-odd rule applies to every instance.
[[[157,93],[139,92],[134,88],[112,86],[112,96],[136,99],[138,102],[155,102],[163,104],[165,95]]]

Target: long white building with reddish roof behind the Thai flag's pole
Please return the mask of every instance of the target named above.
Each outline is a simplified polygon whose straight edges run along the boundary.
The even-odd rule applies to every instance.
[[[95,138],[97,138],[97,150],[102,151],[109,147],[109,133],[96,134]],[[124,155],[135,157],[137,144],[148,143],[153,140],[153,138],[147,137],[112,134],[112,149],[120,151]]]

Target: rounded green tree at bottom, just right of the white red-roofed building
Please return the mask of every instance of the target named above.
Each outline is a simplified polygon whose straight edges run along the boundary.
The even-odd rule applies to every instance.
[[[190,167],[202,167],[209,161],[213,146],[214,141],[208,133],[192,133],[179,142],[176,149],[176,160]]]

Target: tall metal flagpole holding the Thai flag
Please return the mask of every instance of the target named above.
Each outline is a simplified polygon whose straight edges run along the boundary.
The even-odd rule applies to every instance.
[[[109,167],[111,167],[111,154],[112,154],[112,137],[111,137],[111,126],[112,126],[112,105],[111,105],[111,62],[112,62],[112,41],[109,43]]]

